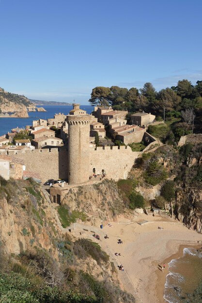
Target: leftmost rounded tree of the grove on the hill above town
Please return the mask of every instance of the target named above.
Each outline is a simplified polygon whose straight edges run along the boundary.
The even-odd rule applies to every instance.
[[[97,86],[93,89],[91,93],[91,99],[89,102],[91,105],[98,105],[98,106],[109,106],[110,100],[110,89],[109,87]]]

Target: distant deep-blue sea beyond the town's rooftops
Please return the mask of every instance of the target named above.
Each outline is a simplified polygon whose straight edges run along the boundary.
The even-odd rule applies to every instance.
[[[0,118],[0,136],[11,131],[12,128],[19,127],[24,128],[26,125],[32,125],[33,120],[37,119],[49,119],[57,113],[63,113],[67,115],[73,106],[56,106],[56,105],[42,105],[36,107],[44,107],[47,111],[31,111],[29,112],[29,118]],[[93,106],[81,105],[80,108],[87,111],[90,114],[93,111]]]

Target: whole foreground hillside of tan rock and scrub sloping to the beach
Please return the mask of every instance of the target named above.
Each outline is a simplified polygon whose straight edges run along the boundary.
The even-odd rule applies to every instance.
[[[114,263],[93,237],[78,239],[62,231],[59,206],[48,202],[37,183],[0,178],[0,184],[1,299],[18,303],[135,302],[121,289]],[[98,194],[101,188],[94,190]],[[69,216],[76,220],[78,213],[70,211]]]

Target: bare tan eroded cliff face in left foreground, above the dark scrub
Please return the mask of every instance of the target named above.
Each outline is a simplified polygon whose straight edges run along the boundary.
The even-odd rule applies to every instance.
[[[60,229],[54,212],[39,190],[32,192],[29,182],[21,184],[24,187],[14,186],[15,196],[8,189],[3,193],[0,188],[0,241],[4,250],[17,255],[33,246],[43,247],[51,249],[57,258],[57,248],[52,244],[53,230],[60,234]]]

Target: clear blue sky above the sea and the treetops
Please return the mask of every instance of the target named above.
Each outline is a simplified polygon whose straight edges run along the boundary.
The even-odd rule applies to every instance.
[[[0,87],[88,104],[95,86],[202,80],[201,0],[0,0]]]

